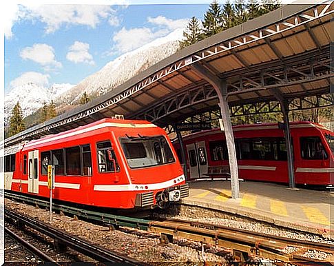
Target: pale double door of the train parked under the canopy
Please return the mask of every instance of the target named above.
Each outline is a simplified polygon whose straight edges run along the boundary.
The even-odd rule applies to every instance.
[[[187,145],[189,170],[191,178],[205,177],[207,174],[207,152],[205,141],[199,141]]]

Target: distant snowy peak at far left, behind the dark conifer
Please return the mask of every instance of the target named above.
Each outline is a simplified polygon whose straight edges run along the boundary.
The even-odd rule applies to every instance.
[[[23,116],[32,114],[43,106],[43,103],[50,103],[57,96],[63,94],[73,85],[69,83],[54,83],[51,87],[45,88],[36,83],[26,83],[12,88],[5,96],[5,123],[10,119],[10,114],[14,105],[19,101]]]

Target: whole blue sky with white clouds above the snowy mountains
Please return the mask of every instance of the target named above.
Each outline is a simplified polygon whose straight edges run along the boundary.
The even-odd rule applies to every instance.
[[[190,17],[202,19],[210,1],[201,2],[12,6],[4,32],[5,93],[29,81],[79,83],[119,55],[185,27]]]

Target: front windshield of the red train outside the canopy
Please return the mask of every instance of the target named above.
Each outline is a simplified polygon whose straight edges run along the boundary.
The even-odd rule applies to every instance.
[[[130,168],[174,163],[171,147],[164,136],[127,136],[121,145]]]

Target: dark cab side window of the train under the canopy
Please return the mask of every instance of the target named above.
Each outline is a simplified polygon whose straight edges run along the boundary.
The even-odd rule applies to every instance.
[[[328,158],[319,136],[301,137],[300,152],[302,158],[306,160],[324,160]]]

